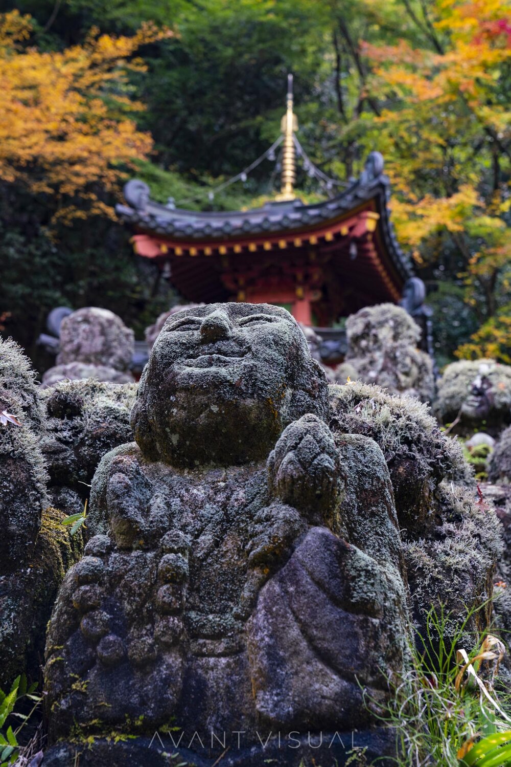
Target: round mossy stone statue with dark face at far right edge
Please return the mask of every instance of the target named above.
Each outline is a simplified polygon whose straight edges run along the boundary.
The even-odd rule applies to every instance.
[[[495,360],[460,360],[444,370],[434,411],[452,433],[498,434],[511,423],[511,366]]]

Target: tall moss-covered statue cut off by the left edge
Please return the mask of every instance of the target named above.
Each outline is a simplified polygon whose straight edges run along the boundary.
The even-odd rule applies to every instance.
[[[0,340],[0,687],[21,672],[38,679],[44,632],[77,549],[64,515],[48,508],[41,453],[44,410],[34,372]]]

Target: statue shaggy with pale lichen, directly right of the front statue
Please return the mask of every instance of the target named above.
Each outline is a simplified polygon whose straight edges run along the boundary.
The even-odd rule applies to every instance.
[[[385,456],[418,634],[425,634],[431,605],[440,609],[441,604],[452,613],[448,631],[454,634],[467,607],[478,607],[491,597],[501,551],[496,515],[477,503],[460,444],[441,433],[425,405],[393,397],[379,387],[359,382],[331,386],[330,400],[336,442],[353,439],[345,432],[363,434],[375,439]],[[354,472],[356,463],[353,456],[344,466]],[[365,476],[362,473],[361,481],[367,484]],[[358,510],[368,505],[370,497],[357,493]],[[489,612],[487,605],[467,624],[470,641]]]

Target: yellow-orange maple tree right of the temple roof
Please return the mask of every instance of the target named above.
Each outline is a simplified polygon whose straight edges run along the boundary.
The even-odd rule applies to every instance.
[[[404,5],[421,47],[362,44],[369,93],[382,105],[371,121],[396,193],[394,220],[418,265],[454,254],[483,324],[509,301],[511,278],[509,9],[499,0],[434,0],[419,18]],[[493,324],[485,327],[487,338]]]

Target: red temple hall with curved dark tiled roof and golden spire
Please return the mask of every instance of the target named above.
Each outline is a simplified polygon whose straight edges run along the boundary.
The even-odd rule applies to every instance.
[[[136,232],[136,252],[185,301],[280,304],[303,324],[331,328],[364,306],[400,300],[413,272],[391,224],[382,155],[372,152],[342,193],[306,205],[293,190],[296,128],[288,88],[281,192],[261,208],[195,212],[153,201],[142,181],[126,184],[127,205],[116,211]]]

